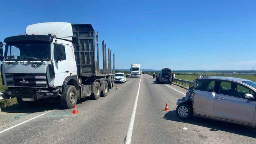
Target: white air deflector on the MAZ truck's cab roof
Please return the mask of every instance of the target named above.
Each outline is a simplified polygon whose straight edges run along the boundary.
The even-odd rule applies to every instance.
[[[26,34],[32,35],[56,35],[57,38],[62,38],[72,41],[73,31],[71,23],[67,22],[46,22],[32,24],[26,27]]]

